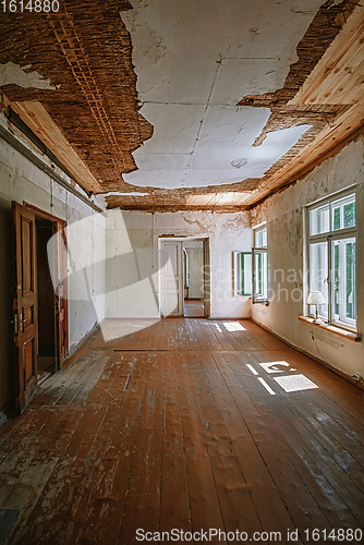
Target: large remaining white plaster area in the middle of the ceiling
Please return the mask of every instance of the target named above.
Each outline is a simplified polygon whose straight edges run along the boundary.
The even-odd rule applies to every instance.
[[[320,0],[131,0],[141,113],[151,138],[133,155],[141,186],[183,187],[262,177],[307,126],[252,147],[266,108],[236,108],[247,94],[283,86]],[[173,154],[173,158],[171,157]]]

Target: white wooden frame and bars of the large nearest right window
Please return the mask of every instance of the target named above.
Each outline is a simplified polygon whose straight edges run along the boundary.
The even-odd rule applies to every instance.
[[[342,225],[342,217],[343,217],[343,214],[342,211],[340,213],[340,228],[339,229],[336,229],[333,230],[333,203],[336,203],[337,201],[340,201],[340,199],[344,199],[345,197],[351,197],[353,196],[354,197],[354,202],[355,202],[355,226],[354,227],[349,227],[349,228],[344,228],[343,225]],[[326,232],[324,233],[318,233],[318,234],[311,234],[310,233],[310,228],[311,228],[311,225],[310,225],[310,213],[317,209],[317,208],[321,208],[321,207],[325,207],[327,206],[328,207],[328,211],[329,211],[329,225],[328,225],[328,229],[326,230]],[[343,206],[344,206],[344,203],[341,204],[341,208],[343,210]],[[344,317],[344,318],[341,318],[339,317],[339,319],[337,318],[337,316],[335,315],[335,262],[333,262],[333,244],[335,242],[338,242],[340,244],[340,241],[343,241],[343,240],[347,240],[347,239],[354,239],[355,241],[355,251],[357,249],[357,195],[356,195],[356,186],[351,186],[351,187],[348,187],[345,191],[342,191],[342,192],[338,192],[338,193],[333,193],[331,195],[329,195],[328,197],[326,198],[323,198],[320,201],[316,201],[315,203],[312,203],[311,205],[307,205],[306,206],[306,213],[305,213],[305,220],[306,220],[306,271],[307,271],[307,275],[306,275],[306,278],[307,278],[307,286],[306,286],[306,293],[310,292],[310,287],[311,287],[311,264],[310,264],[310,250],[311,250],[311,245],[314,244],[314,243],[326,243],[327,244],[327,264],[328,264],[328,276],[327,278],[325,279],[325,281],[327,281],[327,286],[328,286],[328,289],[327,289],[327,293],[328,293],[328,296],[327,296],[327,315],[326,314],[323,314],[323,312],[320,311],[320,306],[318,306],[318,314],[321,318],[324,318],[324,320],[327,323],[327,324],[330,324],[330,325],[335,325],[337,327],[340,327],[340,328],[343,328],[343,329],[349,329],[349,330],[353,330],[353,331],[356,331],[356,327],[357,327],[357,304],[355,305],[355,318],[349,318],[349,317]],[[340,247],[339,246],[339,252],[342,252],[342,246]],[[356,255],[357,255],[357,251],[356,251]],[[344,259],[340,259],[339,261],[340,263],[340,267],[341,267],[341,274],[342,275],[345,275],[345,270],[342,268],[343,267],[343,263],[344,263]],[[355,259],[355,267],[356,267],[356,259]],[[341,299],[342,299],[342,291],[340,292],[341,294]],[[305,301],[306,301],[307,298],[305,298]],[[357,281],[356,281],[356,275],[355,275],[355,301],[357,301]],[[345,308],[345,304],[342,304],[342,301],[341,301],[341,307]],[[310,307],[310,305],[307,305],[305,303],[305,307],[304,307],[304,314],[306,316],[314,316],[315,315],[315,311],[316,308],[315,307]]]

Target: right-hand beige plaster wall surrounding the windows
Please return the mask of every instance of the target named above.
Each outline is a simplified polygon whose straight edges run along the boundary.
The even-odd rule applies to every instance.
[[[357,329],[364,330],[364,137],[348,144],[303,180],[252,210],[252,226],[267,221],[270,304],[255,304],[252,316],[293,346],[343,373],[364,376],[364,344],[299,320],[303,314],[303,207],[359,185],[356,201]],[[279,270],[280,269],[280,270]],[[287,290],[287,292],[284,291]],[[288,299],[288,301],[287,301]]]

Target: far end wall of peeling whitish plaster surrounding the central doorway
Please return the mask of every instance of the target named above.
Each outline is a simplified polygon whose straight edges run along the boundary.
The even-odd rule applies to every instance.
[[[210,316],[248,317],[248,298],[234,296],[232,252],[250,251],[250,214],[146,214],[112,209],[106,220],[106,316],[159,316],[158,238],[209,239]]]

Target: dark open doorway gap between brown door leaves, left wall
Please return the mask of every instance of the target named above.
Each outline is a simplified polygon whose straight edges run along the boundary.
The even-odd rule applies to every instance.
[[[56,370],[54,290],[49,270],[47,244],[53,235],[53,225],[35,217],[37,259],[37,368],[38,374]]]

